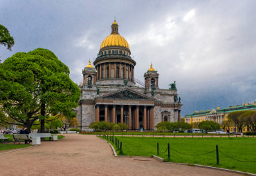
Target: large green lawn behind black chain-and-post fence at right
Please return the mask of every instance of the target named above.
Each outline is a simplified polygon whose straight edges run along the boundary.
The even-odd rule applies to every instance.
[[[165,162],[201,164],[256,173],[256,139],[254,137],[169,138],[118,136],[117,139],[122,141],[122,153],[116,148],[118,155],[149,157],[157,155],[156,146],[158,143],[160,149],[158,156],[165,159]],[[165,152],[168,143],[170,143],[170,159],[168,159],[167,151]],[[207,155],[200,155],[215,150],[216,145],[219,146],[219,165],[217,165],[216,151]],[[230,157],[247,162],[237,162],[226,157],[220,151]],[[253,161],[254,163],[248,163],[248,161]]]

